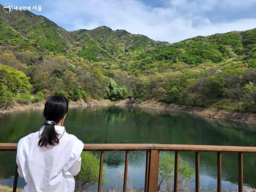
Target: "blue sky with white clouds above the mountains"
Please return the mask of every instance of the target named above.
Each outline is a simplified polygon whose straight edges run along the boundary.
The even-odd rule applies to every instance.
[[[256,0],[0,0],[5,3],[41,5],[31,11],[68,31],[107,26],[170,43],[256,28]]]

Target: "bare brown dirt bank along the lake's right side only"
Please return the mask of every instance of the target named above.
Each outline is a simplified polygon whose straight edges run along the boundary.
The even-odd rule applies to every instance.
[[[250,125],[256,125],[256,114],[255,113],[237,113],[237,112],[227,112],[224,110],[213,111],[210,108],[203,107],[189,107],[176,104],[167,104],[159,102],[155,99],[151,99],[142,103],[126,102],[126,105],[153,108],[153,109],[164,109],[177,112],[185,112],[194,115],[200,115],[204,117],[212,117],[216,119],[236,121],[240,123],[247,123]]]

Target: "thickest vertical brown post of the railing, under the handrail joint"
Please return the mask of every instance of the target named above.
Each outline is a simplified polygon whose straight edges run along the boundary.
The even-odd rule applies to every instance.
[[[148,191],[158,191],[159,150],[150,150]]]

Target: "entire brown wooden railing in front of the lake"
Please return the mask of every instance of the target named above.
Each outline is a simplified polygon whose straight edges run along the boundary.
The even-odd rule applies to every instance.
[[[0,151],[16,151],[16,143],[0,143]],[[170,145],[170,144],[85,144],[84,151],[101,151],[98,192],[101,191],[102,166],[104,151],[126,151],[124,185],[123,191],[126,192],[127,171],[129,161],[129,151],[146,151],[146,170],[145,170],[145,192],[156,192],[158,187],[158,168],[160,151],[174,151],[174,187],[173,191],[178,192],[178,172],[179,172],[179,152],[195,152],[195,191],[199,192],[199,154],[200,152],[217,153],[217,191],[221,192],[221,153],[238,153],[238,192],[243,191],[243,153],[256,153],[256,147],[239,146],[213,146],[213,145]],[[16,166],[13,192],[16,191],[18,181],[18,167]]]

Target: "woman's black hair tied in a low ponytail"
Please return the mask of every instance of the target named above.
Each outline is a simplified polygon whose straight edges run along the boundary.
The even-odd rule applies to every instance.
[[[50,97],[43,110],[43,116],[47,121],[54,121],[58,123],[68,111],[68,101],[61,95],[54,95]],[[38,146],[47,147],[47,145],[59,144],[58,133],[55,132],[54,124],[44,123],[44,129],[40,135]]]

